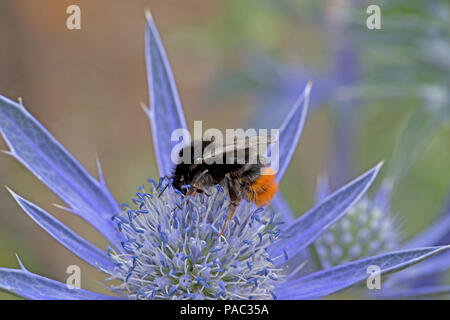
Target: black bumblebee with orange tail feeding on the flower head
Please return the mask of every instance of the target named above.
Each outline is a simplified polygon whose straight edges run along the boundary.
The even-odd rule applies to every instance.
[[[235,139],[228,145],[218,144],[214,138],[193,141],[179,152],[183,161],[174,169],[172,186],[185,195],[209,195],[216,185],[223,188],[228,204],[220,237],[242,199],[261,207],[268,205],[277,192],[275,172],[257,152],[260,146],[271,143],[270,137],[260,136]]]

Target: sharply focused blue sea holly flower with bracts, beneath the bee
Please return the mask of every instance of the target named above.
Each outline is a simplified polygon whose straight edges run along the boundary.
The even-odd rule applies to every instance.
[[[146,109],[161,176],[170,172],[170,134],[184,128],[180,100],[161,40],[147,18],[146,58],[150,106]],[[292,107],[279,135],[280,181],[300,138],[310,86]],[[342,218],[374,181],[381,165],[363,173],[293,221],[242,203],[221,237],[225,219],[220,187],[212,195],[185,197],[160,179],[137,188],[129,204],[119,206],[102,174],[95,180],[22,106],[0,97],[0,131],[8,154],[55,192],[74,213],[110,242],[102,250],[52,215],[10,190],[40,227],[60,244],[119,284],[111,295],[65,284],[27,270],[0,268],[0,288],[29,299],[311,299],[364,281],[367,267],[392,273],[425,260],[448,246],[394,251],[297,276],[295,261],[304,249]],[[99,166],[100,169],[100,166]],[[160,190],[169,183],[162,193]],[[293,267],[294,269],[291,269]],[[107,279],[107,280],[108,280]]]

